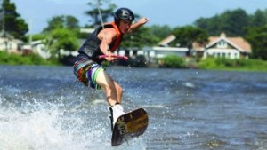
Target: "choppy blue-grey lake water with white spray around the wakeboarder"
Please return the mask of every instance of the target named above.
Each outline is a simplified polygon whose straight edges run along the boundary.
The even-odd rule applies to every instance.
[[[108,67],[126,111],[143,107],[140,138],[111,147],[102,91],[72,67],[0,66],[0,150],[265,150],[267,73]]]

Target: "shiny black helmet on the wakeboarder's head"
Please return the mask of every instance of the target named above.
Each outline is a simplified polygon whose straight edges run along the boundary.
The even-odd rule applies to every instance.
[[[114,14],[115,23],[118,25],[119,20],[134,20],[134,12],[128,8],[119,8]]]

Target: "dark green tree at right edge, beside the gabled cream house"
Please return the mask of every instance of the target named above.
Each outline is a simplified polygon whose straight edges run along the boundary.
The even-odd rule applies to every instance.
[[[267,60],[267,25],[249,28],[245,38],[251,44],[252,57]]]

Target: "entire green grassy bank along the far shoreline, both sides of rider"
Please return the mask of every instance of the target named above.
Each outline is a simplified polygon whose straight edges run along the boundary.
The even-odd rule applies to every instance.
[[[145,59],[142,59],[145,62]],[[138,61],[139,62],[139,61]],[[137,63],[137,61],[136,61]],[[0,51],[0,65],[45,65],[58,66],[62,63],[58,59],[45,60],[38,55],[31,54],[20,56],[17,54]],[[129,65],[133,65],[129,64]],[[143,64],[142,64],[143,65]],[[264,71],[267,72],[267,61],[260,59],[215,59],[207,58],[200,59],[185,59],[177,55],[166,56],[163,59],[158,59],[153,67],[168,67],[168,68],[199,68],[199,69],[214,69],[214,70],[231,70],[231,71]],[[135,65],[134,67],[143,67]]]

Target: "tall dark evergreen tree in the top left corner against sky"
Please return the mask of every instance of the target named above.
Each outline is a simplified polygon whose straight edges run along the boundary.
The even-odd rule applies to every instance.
[[[20,13],[16,12],[16,5],[11,3],[10,0],[4,0],[1,12],[3,16],[0,24],[4,33],[25,40],[28,24],[20,18]]]

